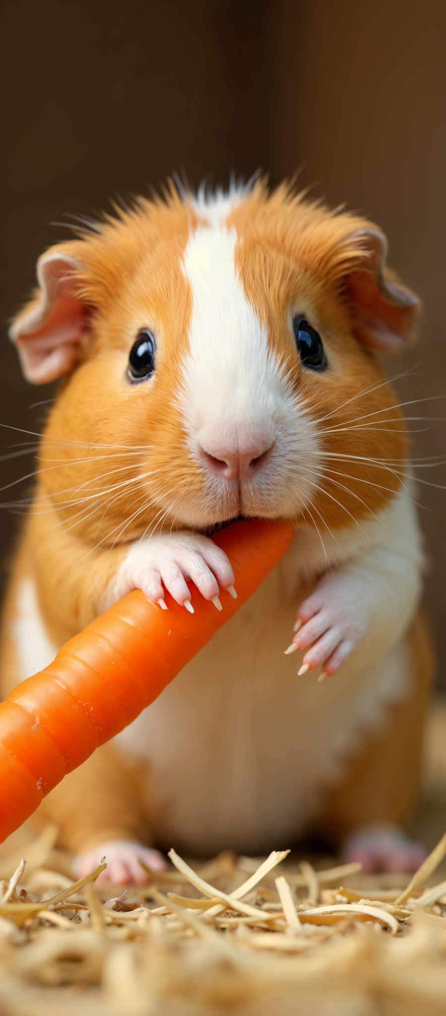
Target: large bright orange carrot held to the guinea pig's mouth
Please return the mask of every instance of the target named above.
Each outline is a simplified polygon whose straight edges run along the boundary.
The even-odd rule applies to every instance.
[[[0,842],[160,695],[256,590],[292,535],[288,522],[235,522],[214,536],[238,593],[222,595],[221,612],[198,593],[193,615],[169,595],[162,611],[135,589],[8,695],[0,704]]]

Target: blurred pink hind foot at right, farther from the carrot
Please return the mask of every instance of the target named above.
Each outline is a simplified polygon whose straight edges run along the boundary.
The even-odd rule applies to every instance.
[[[365,874],[376,872],[416,872],[426,860],[427,850],[398,826],[368,826],[352,833],[343,844],[342,861],[356,861]]]

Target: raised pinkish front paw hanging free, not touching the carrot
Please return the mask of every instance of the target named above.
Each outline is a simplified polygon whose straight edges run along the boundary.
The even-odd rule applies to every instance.
[[[366,589],[348,576],[322,580],[301,604],[295,637],[285,653],[307,650],[300,675],[322,666],[319,680],[334,674],[369,629],[372,610]]]

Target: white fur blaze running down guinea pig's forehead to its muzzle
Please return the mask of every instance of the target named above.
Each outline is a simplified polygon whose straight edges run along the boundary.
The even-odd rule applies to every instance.
[[[200,461],[200,446],[225,458],[225,449],[263,450],[274,443],[267,463],[242,487],[242,508],[246,514],[294,514],[299,498],[302,504],[310,494],[308,470],[318,467],[319,438],[238,278],[238,241],[236,231],[218,220],[200,226],[184,253],[183,268],[193,298],[180,394],[189,451]],[[207,500],[209,517],[200,516],[195,506],[195,514],[193,508],[187,515],[182,511],[188,525],[215,522],[216,506],[225,497],[231,499],[220,478],[209,471],[205,481],[201,501]],[[237,514],[237,506],[232,508],[231,512],[229,503],[227,517]]]

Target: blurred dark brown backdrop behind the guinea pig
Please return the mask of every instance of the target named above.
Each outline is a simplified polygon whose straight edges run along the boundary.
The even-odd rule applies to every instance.
[[[3,321],[34,284],[34,265],[68,236],[67,212],[94,214],[117,193],[147,192],[173,170],[191,185],[259,167],[273,183],[299,169],[330,203],[386,231],[391,262],[423,297],[422,341],[391,373],[409,416],[445,417],[446,6],[388,0],[269,3],[47,0],[4,8]],[[65,219],[68,221],[68,219]],[[51,390],[21,379],[6,337],[0,423],[39,430]],[[411,424],[416,455],[443,453],[443,423]],[[426,430],[425,428],[429,428]],[[3,430],[2,453],[21,436]],[[2,463],[3,484],[33,468]],[[419,475],[444,485],[446,468]],[[25,496],[24,485],[2,497]],[[431,554],[428,600],[446,675],[446,492],[423,486]],[[3,561],[19,519],[0,515]],[[446,681],[443,678],[443,684]]]

